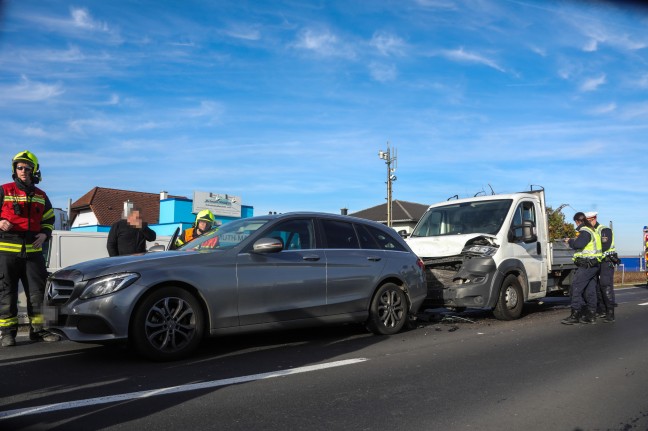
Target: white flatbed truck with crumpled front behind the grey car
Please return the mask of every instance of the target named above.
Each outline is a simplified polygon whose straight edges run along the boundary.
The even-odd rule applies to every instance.
[[[544,190],[431,205],[406,241],[425,263],[428,305],[490,309],[502,320],[562,293],[574,269],[571,252],[549,241]]]

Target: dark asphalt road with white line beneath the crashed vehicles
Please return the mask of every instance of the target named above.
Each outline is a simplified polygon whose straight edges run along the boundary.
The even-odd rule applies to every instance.
[[[648,289],[615,323],[565,300],[516,321],[422,313],[379,337],[342,326],[210,339],[152,363],[69,341],[0,350],[0,430],[648,430]]]

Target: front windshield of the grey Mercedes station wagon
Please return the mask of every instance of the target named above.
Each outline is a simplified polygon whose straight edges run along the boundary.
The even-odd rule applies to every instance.
[[[226,250],[236,247],[241,241],[252,235],[257,229],[269,221],[269,219],[251,218],[226,223],[218,229],[213,229],[188,242],[180,247],[179,250]]]

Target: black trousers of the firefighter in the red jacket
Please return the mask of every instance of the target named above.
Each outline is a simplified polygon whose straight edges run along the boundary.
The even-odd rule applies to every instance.
[[[0,330],[18,327],[18,282],[22,282],[25,290],[30,321],[42,319],[46,281],[43,253],[27,253],[27,257],[0,253]]]

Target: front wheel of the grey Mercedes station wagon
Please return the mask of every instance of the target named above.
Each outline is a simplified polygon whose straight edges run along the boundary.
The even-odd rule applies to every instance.
[[[203,337],[203,313],[196,298],[184,289],[156,289],[135,310],[132,345],[154,361],[189,355]]]

